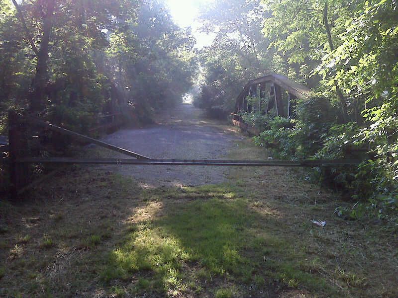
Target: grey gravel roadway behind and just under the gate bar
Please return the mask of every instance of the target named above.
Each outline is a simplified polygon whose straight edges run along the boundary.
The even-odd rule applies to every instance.
[[[226,158],[241,139],[227,123],[208,119],[201,109],[181,104],[157,116],[157,125],[122,129],[103,140],[152,158]],[[126,157],[112,152],[111,156]],[[118,165],[112,170],[133,176],[142,186],[214,184],[226,179],[229,167]]]

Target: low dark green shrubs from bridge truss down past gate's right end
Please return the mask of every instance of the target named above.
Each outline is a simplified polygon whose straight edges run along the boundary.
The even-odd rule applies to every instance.
[[[314,167],[309,177],[343,191],[353,200],[351,209],[336,209],[338,216],[396,220],[398,188],[392,172],[383,166],[380,155],[371,158],[379,144],[369,147],[361,141],[357,123],[340,124],[337,109],[329,102],[314,96],[298,102],[295,119],[268,118],[265,130],[253,138],[255,144],[271,148],[278,158],[364,160],[357,167]]]

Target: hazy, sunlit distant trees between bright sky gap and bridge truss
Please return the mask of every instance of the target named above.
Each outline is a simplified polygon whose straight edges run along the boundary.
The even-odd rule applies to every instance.
[[[217,30],[217,34],[200,55],[204,78],[195,99],[197,106],[226,116],[234,111],[242,86],[269,71],[268,41],[261,34],[263,12],[259,2],[252,0],[216,0],[202,7],[202,29]]]

